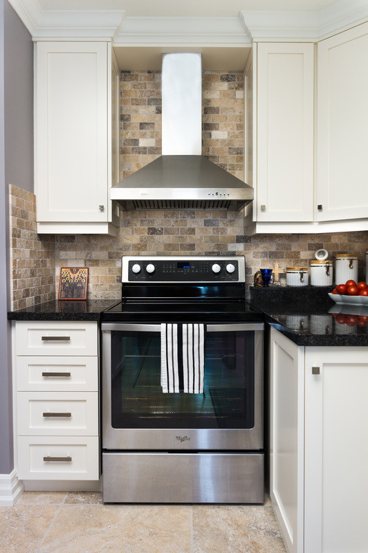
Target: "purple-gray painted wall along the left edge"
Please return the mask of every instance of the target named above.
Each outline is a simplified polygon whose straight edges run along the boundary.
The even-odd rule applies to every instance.
[[[33,44],[8,0],[0,0],[0,474],[14,467],[9,184],[33,191]]]

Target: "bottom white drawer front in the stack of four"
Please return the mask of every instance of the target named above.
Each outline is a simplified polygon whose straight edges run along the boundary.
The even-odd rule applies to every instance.
[[[18,438],[18,478],[27,480],[98,480],[98,437]]]

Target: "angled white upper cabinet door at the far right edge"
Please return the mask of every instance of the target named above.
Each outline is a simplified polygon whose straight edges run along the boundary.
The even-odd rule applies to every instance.
[[[318,44],[318,221],[368,217],[367,67],[368,24]]]

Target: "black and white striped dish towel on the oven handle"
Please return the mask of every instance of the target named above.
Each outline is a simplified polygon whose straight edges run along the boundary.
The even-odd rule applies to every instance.
[[[163,393],[203,393],[204,324],[161,324]]]

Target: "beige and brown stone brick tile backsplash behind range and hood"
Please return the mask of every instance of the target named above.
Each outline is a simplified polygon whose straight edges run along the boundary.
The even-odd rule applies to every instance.
[[[160,156],[160,73],[122,72],[120,95],[120,178],[125,178]],[[203,155],[243,178],[242,73],[203,73],[202,100]],[[63,266],[90,268],[89,298],[116,299],[124,254],[244,255],[249,285],[259,268],[309,265],[315,250],[324,247],[329,259],[339,252],[358,254],[359,278],[365,279],[368,232],[247,236],[243,212],[162,209],[123,212],[116,238],[41,236],[33,194],[10,187],[10,209],[14,309],[53,299]]]

